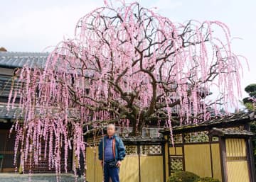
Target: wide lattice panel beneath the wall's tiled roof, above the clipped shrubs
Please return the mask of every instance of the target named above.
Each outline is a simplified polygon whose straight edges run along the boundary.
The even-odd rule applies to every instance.
[[[184,140],[186,143],[209,142],[208,131],[185,133]]]

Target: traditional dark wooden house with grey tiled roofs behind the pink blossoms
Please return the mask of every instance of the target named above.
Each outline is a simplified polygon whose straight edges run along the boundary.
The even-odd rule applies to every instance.
[[[9,92],[11,89],[12,78],[16,69],[23,67],[43,67],[48,57],[47,52],[0,52],[0,172],[18,171],[19,157],[17,164],[14,166],[14,145],[15,133],[10,134],[11,126],[16,119],[23,118],[21,109],[18,108],[18,96],[14,108],[7,110]],[[72,169],[72,152],[68,158],[68,170]],[[64,165],[64,161],[63,161]],[[23,171],[25,173],[30,170],[33,173],[54,172],[55,169],[49,169],[48,159],[42,159],[38,165],[29,162],[25,163]]]

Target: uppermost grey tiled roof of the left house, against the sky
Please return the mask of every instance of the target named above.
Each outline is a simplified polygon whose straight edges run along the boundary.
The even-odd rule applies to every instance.
[[[0,67],[44,67],[48,52],[0,52]]]

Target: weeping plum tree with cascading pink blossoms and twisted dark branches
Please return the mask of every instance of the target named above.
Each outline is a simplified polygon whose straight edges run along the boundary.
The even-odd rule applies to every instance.
[[[73,143],[79,158],[83,135],[107,123],[132,126],[131,135],[142,135],[151,121],[171,130],[171,123],[208,120],[208,107],[233,103],[240,90],[240,62],[224,23],[174,23],[136,2],[105,2],[80,18],[75,37],[55,47],[44,69],[24,67],[17,75],[20,89],[9,97],[11,104],[21,95],[24,113],[14,125],[16,151],[20,143],[26,161],[33,150],[37,164],[44,142],[57,172],[62,147],[67,159]],[[213,85],[222,95],[210,101]]]

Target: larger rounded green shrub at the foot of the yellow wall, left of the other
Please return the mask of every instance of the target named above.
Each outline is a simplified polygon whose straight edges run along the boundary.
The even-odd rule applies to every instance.
[[[178,171],[172,174],[168,182],[194,182],[199,178],[196,174],[187,171]]]

